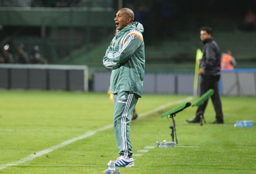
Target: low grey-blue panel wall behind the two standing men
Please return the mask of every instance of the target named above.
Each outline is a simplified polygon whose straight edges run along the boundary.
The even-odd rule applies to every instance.
[[[111,72],[108,71],[95,72],[93,91],[107,92],[110,76]],[[194,74],[146,73],[143,83],[143,93],[193,95]],[[256,69],[221,71],[219,87],[220,94],[224,96],[256,96]]]

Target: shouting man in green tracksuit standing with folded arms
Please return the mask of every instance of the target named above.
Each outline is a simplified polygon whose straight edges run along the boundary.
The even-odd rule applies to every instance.
[[[115,17],[117,35],[103,58],[112,70],[110,89],[114,98],[114,130],[120,157],[115,167],[134,167],[130,126],[132,111],[142,95],[145,71],[145,51],[142,24],[134,22],[131,9],[120,9]],[[108,164],[109,165],[109,164]]]

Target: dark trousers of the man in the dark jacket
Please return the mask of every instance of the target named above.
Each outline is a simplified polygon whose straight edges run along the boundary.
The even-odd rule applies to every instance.
[[[213,102],[213,107],[216,112],[216,120],[223,121],[222,106],[221,106],[219,87],[218,87],[219,80],[220,80],[220,76],[210,76],[210,75],[204,75],[204,74],[201,75],[200,96],[206,93],[209,89],[214,90],[214,94],[211,96],[211,101]],[[204,101],[204,103],[198,107],[196,112],[197,120],[200,120],[200,114],[204,113],[207,103],[208,103],[208,100]]]

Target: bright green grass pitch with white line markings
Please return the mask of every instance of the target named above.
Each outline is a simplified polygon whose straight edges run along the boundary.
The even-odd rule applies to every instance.
[[[210,124],[211,102],[203,126],[185,122],[197,109],[188,107],[175,117],[177,147],[155,147],[171,141],[171,123],[161,114],[196,100],[143,94],[131,122],[135,167],[120,173],[256,173],[256,128],[233,126],[256,122],[255,97],[222,96],[221,125]],[[106,93],[0,90],[0,173],[104,173],[118,157],[113,110]]]

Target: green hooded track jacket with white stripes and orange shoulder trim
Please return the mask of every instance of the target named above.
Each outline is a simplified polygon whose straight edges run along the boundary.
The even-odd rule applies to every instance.
[[[118,31],[103,58],[105,67],[112,70],[111,93],[132,91],[142,95],[145,72],[145,50],[142,24],[134,22]]]

